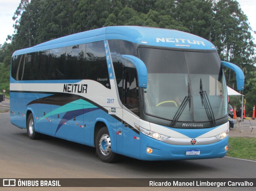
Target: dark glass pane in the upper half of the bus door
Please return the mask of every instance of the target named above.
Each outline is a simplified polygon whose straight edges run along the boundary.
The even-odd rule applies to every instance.
[[[137,116],[140,116],[139,87],[136,69],[126,68],[123,77],[123,104]]]

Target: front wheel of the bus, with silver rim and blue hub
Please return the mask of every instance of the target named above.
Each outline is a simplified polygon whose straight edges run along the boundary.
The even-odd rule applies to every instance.
[[[106,126],[98,131],[95,146],[97,155],[101,161],[112,163],[118,159],[118,154],[111,151],[111,140]]]

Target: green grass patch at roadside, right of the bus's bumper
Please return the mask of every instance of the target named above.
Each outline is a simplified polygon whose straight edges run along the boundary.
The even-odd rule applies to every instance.
[[[230,137],[226,156],[256,161],[256,138]]]

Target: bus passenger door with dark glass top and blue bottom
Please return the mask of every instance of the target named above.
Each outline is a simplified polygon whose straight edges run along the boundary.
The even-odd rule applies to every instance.
[[[123,146],[127,156],[140,158],[140,136],[138,130],[133,128],[139,123],[140,105],[137,71],[125,68],[123,75]],[[127,110],[128,109],[128,110]]]

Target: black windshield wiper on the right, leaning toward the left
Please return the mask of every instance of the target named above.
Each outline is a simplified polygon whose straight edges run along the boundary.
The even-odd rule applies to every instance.
[[[203,91],[202,79],[200,79],[200,92],[199,93],[201,95],[202,105],[204,106],[204,109],[206,111],[206,115],[207,115],[208,119],[212,120],[213,125],[216,125],[216,120],[214,117],[212,106],[210,104],[210,100],[208,98],[206,91]]]

